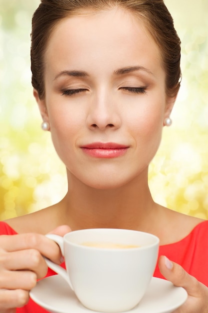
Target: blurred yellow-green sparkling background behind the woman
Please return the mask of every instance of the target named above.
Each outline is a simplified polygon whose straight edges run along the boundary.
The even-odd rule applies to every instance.
[[[208,0],[165,0],[182,40],[182,87],[150,166],[160,204],[208,219]],[[39,0],[0,0],[0,219],[57,202],[65,168],[32,96],[31,16]]]

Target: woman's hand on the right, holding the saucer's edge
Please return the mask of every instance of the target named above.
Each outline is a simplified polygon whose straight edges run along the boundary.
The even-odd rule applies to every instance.
[[[167,280],[176,286],[184,287],[188,292],[187,301],[173,313],[208,313],[208,287],[206,285],[164,255],[159,258],[159,268]]]

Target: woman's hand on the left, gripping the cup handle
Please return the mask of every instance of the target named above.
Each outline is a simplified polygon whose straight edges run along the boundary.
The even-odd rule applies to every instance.
[[[68,226],[59,226],[50,233],[64,235]],[[60,264],[58,245],[38,233],[0,235],[0,313],[14,313],[25,305],[29,290],[47,274],[43,256]]]

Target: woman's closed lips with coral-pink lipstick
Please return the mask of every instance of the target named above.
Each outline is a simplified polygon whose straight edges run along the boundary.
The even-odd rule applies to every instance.
[[[100,158],[112,158],[124,155],[129,146],[115,142],[93,142],[81,146],[84,153]]]

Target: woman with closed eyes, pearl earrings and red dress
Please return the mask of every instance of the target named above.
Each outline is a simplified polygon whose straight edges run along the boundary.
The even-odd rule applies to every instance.
[[[42,255],[62,261],[44,234],[94,227],[157,235],[155,276],[189,294],[175,313],[207,312],[208,222],[155,203],[148,187],[148,165],[171,124],[181,77],[180,39],[165,4],[42,0],[31,39],[33,94],[66,165],[68,192],[57,204],[1,223],[0,312],[44,312],[26,305],[47,273]]]

